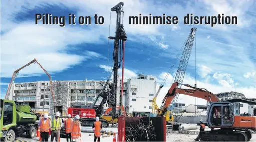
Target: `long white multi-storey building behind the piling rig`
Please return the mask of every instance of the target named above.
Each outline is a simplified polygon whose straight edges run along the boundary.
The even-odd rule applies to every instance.
[[[120,102],[121,94],[121,80],[118,76],[118,88],[117,91],[117,105]],[[71,80],[71,81],[52,81],[53,94],[55,100],[55,107],[58,111],[66,116],[68,107],[76,105],[92,106],[97,95],[104,88],[106,80]],[[107,85],[107,90],[109,86]],[[129,93],[127,90],[129,88]],[[149,89],[150,88],[150,89]],[[124,82],[122,104],[126,108],[127,112],[152,111],[151,102],[155,95],[156,77],[145,76],[144,79],[131,78]],[[128,95],[127,95],[128,94]],[[150,95],[149,95],[150,94]],[[42,112],[54,112],[54,101],[52,97],[52,90],[50,81],[37,81],[26,83],[15,83],[11,89],[10,99],[17,101],[20,105],[29,105],[34,111]],[[134,104],[135,100],[135,104]],[[146,101],[146,109],[137,107],[136,101]],[[101,102],[101,98],[96,102],[98,105]],[[145,106],[143,105],[143,106]],[[150,107],[149,107],[150,106]],[[109,107],[107,104],[104,106],[105,110]]]

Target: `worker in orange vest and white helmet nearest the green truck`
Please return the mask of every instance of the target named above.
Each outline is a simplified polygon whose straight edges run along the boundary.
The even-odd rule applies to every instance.
[[[40,117],[39,128],[41,142],[48,142],[49,130],[51,128],[51,120],[48,118],[48,113],[45,113],[44,117]]]

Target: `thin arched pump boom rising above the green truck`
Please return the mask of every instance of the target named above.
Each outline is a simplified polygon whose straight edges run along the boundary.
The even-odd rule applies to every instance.
[[[44,67],[36,60],[32,60],[31,62],[29,62],[28,64],[26,64],[25,66],[17,69],[14,71],[14,74],[13,74],[13,77],[11,79],[11,82],[10,82],[10,85],[8,86],[8,89],[7,89],[7,93],[6,93],[6,96],[5,96],[5,99],[9,99],[9,96],[10,96],[10,93],[11,93],[11,89],[12,89],[12,86],[14,85],[14,81],[17,77],[17,75],[19,74],[20,70],[24,69],[25,67],[31,65],[32,63],[37,63],[43,70],[44,72],[47,74],[47,76],[49,77],[49,80],[50,80],[50,87],[51,87],[51,93],[52,93],[52,96],[53,96],[53,102],[54,102],[54,112],[55,112],[55,99],[54,99],[54,92],[53,92],[53,83],[52,83],[52,77],[51,75],[44,69]]]

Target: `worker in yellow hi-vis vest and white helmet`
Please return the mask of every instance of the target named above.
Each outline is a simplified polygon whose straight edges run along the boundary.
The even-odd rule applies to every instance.
[[[55,117],[52,117],[52,125],[51,125],[51,142],[53,142],[53,139],[55,137],[55,141],[59,142],[60,138],[60,131],[62,127],[62,120],[60,118],[60,112],[57,112],[55,114]]]

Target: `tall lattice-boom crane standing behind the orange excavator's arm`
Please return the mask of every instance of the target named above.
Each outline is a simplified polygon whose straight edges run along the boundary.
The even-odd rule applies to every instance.
[[[181,56],[181,59],[180,59],[180,62],[179,62],[179,67],[177,69],[177,73],[176,73],[175,80],[174,80],[174,82],[178,82],[178,88],[181,88],[181,86],[182,86],[182,82],[183,82],[183,79],[184,79],[184,76],[185,76],[188,60],[189,60],[189,57],[190,57],[190,54],[191,54],[191,51],[192,51],[192,47],[193,47],[193,44],[194,44],[195,32],[196,32],[196,27],[191,28],[191,31],[190,31],[185,43],[182,46],[184,48],[184,50],[183,50],[183,53],[182,53],[182,56]],[[182,51],[183,48],[181,48],[180,51]],[[179,56],[179,54],[178,54],[178,56]],[[156,104],[156,98],[157,98],[161,88],[163,87],[164,82],[167,80],[168,75],[170,74],[170,71],[171,71],[172,67],[173,67],[173,65],[170,67],[169,72],[165,76],[165,79],[163,80],[163,83],[160,85],[160,87],[159,87],[159,89],[158,89],[158,91],[157,91],[157,93],[156,93],[156,95],[155,95],[155,97],[152,101],[152,110],[153,110],[153,113],[157,114],[157,116],[162,116],[163,117],[165,115],[165,113],[167,112],[167,109],[168,109],[168,107],[166,108],[164,106],[166,104],[170,104],[170,102],[166,102],[166,98],[168,96],[165,96],[163,101],[162,101],[162,105],[159,108]],[[170,106],[171,116],[172,116],[172,112],[173,112],[173,110],[172,110],[173,106],[176,104],[178,97],[179,97],[179,94],[176,93],[175,97],[171,100],[172,101],[171,106]]]

